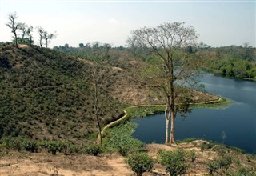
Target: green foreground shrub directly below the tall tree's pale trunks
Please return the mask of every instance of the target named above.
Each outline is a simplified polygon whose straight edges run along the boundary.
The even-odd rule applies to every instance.
[[[186,152],[178,149],[174,151],[158,151],[158,161],[166,166],[166,172],[170,175],[185,174],[188,165],[185,161]]]

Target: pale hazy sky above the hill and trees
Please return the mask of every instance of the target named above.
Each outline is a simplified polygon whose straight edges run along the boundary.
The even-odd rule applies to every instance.
[[[131,30],[163,22],[186,22],[210,46],[256,46],[254,1],[86,1],[0,0],[0,41],[10,41],[7,16],[17,12],[18,22],[56,31],[50,47],[79,43],[126,44]],[[35,30],[35,29],[34,29]],[[38,34],[34,31],[38,43]]]

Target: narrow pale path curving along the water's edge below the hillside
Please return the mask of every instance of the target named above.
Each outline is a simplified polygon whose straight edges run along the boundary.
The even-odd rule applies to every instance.
[[[210,101],[206,101],[206,102],[196,102],[196,103],[190,103],[190,105],[207,105],[207,104],[215,104],[215,103],[219,103],[219,102],[223,102],[226,101],[224,98],[218,97],[217,100],[210,100]],[[114,126],[116,123],[121,122],[122,120],[124,120],[129,114],[127,113],[128,109],[133,109],[133,108],[137,108],[137,107],[146,107],[146,106],[152,106],[152,107],[157,107],[157,106],[166,106],[166,105],[136,105],[136,106],[129,106],[126,107],[123,111],[124,111],[124,115],[121,118],[118,118],[117,120],[115,120],[114,122],[110,122],[109,124],[107,124],[106,126],[104,126],[102,128],[101,134],[103,136],[104,131],[109,128],[110,126]]]

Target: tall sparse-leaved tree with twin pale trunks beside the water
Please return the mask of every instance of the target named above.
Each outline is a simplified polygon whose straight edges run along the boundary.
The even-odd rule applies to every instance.
[[[195,70],[199,62],[183,49],[193,46],[197,37],[194,27],[185,26],[184,22],[164,23],[132,31],[131,38],[134,39],[131,41],[138,46],[146,46],[154,56],[145,75],[150,86],[161,91],[166,98],[166,143],[175,143],[174,122],[177,113],[185,114],[188,111],[190,91],[182,85],[190,83],[189,78],[197,73]]]

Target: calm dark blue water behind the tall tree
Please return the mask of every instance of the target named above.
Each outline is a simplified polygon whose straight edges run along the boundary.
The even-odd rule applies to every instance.
[[[225,144],[236,146],[246,152],[256,154],[256,82],[222,78],[204,74],[201,79],[206,91],[230,98],[234,102],[224,110],[194,109],[183,120],[176,118],[175,138],[204,138],[222,142],[222,132],[226,134]],[[166,121],[164,114],[135,118],[138,123],[134,138],[142,142],[163,143]]]

